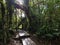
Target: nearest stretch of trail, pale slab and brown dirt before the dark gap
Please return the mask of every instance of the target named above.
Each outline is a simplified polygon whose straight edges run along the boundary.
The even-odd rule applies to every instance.
[[[22,39],[22,43],[19,40],[11,40],[8,45],[40,45],[35,38],[25,38]]]

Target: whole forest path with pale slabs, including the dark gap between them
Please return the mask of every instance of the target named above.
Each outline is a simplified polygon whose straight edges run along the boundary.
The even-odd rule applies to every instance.
[[[18,32],[19,33],[16,35],[15,40],[11,39],[8,45],[40,45],[38,40],[33,36],[29,36],[30,34],[26,31]]]

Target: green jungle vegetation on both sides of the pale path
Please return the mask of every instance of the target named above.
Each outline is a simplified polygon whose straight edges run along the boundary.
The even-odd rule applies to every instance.
[[[6,1],[0,0],[0,40],[8,40],[11,37],[8,30],[22,29],[22,25],[37,38],[60,37],[60,0],[29,0],[29,12],[22,21],[19,17],[22,13],[18,14],[18,9]]]

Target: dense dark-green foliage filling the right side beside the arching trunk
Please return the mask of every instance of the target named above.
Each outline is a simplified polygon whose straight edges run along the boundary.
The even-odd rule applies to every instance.
[[[60,1],[31,1],[30,6],[30,30],[38,37],[52,38],[60,36]],[[36,3],[36,4],[35,4]]]

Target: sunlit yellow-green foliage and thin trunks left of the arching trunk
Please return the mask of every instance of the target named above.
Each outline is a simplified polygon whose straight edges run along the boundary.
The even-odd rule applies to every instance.
[[[15,8],[8,1],[6,0],[4,3],[3,0],[0,0],[0,38],[4,38],[4,41],[11,37],[9,30],[22,29],[22,25],[25,29],[29,27],[27,26],[29,22],[28,17],[24,17],[25,11]]]

